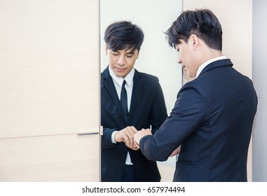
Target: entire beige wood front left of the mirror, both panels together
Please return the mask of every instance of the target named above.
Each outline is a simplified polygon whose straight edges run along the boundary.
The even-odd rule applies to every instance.
[[[99,13],[0,1],[0,181],[100,181]]]

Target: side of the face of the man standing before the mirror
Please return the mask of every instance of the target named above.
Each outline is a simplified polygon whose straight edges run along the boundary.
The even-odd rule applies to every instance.
[[[188,43],[180,40],[181,43],[175,45],[175,49],[179,52],[179,57],[177,62],[182,64],[184,71],[188,74],[190,78],[196,77],[196,71],[198,71],[198,66],[196,65],[196,60],[193,57],[193,47],[191,47],[191,42]]]

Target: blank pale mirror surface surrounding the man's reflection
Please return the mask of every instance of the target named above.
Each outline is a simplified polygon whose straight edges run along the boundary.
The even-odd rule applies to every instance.
[[[103,40],[107,26],[119,20],[128,20],[138,25],[144,31],[144,43],[139,59],[135,62],[135,69],[159,78],[168,114],[182,87],[182,67],[177,64],[177,52],[170,48],[163,32],[167,31],[180,13],[182,0],[100,0],[101,71],[108,65]],[[175,167],[175,157],[163,164]],[[164,181],[164,174],[160,174]],[[172,181],[172,173],[167,174],[167,178]]]

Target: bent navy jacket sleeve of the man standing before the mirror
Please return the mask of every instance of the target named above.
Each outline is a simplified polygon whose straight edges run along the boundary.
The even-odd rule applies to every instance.
[[[160,129],[140,140],[140,149],[149,160],[165,161],[206,116],[205,99],[186,83],[177,95],[174,109]]]

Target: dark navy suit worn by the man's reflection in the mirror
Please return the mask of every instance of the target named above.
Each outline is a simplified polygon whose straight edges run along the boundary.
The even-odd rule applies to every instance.
[[[128,151],[135,165],[137,181],[160,181],[156,162],[147,160],[141,151],[127,148],[124,142],[113,144],[111,134],[127,126],[134,126],[137,130],[152,126],[154,133],[166,118],[167,111],[158,78],[135,70],[129,118],[128,122],[125,122],[109,69],[105,69],[101,75],[101,124],[104,127],[101,151],[102,181],[121,180]]]

